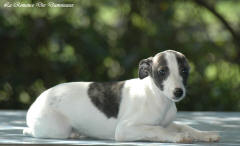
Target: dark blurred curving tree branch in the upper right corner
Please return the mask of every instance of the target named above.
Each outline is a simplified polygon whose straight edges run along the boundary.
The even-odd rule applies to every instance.
[[[236,49],[237,56],[232,61],[240,63],[240,32],[237,32],[236,30],[234,30],[232,26],[229,24],[229,22],[216,11],[214,6],[208,4],[205,0],[194,0],[194,1],[198,5],[209,10],[214,16],[216,16],[219,19],[219,21],[224,25],[224,27],[231,33],[234,43],[236,44],[236,47],[237,47]]]

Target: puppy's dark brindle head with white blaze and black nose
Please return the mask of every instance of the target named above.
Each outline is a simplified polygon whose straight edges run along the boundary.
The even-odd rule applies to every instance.
[[[168,98],[177,102],[186,94],[189,74],[186,57],[177,51],[167,50],[139,63],[139,78],[150,76],[158,89]]]

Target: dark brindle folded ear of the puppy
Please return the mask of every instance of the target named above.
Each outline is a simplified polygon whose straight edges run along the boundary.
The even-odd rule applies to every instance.
[[[138,76],[140,79],[143,79],[152,73],[152,59],[153,57],[149,57],[140,61],[138,69]]]

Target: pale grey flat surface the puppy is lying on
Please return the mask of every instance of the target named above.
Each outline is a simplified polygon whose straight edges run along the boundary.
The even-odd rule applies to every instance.
[[[22,135],[26,127],[26,111],[0,111],[0,144],[58,144],[58,145],[240,145],[239,112],[179,112],[177,122],[191,125],[200,130],[219,131],[218,143],[152,143],[128,142],[118,143],[106,140],[79,139],[56,140],[37,139]]]

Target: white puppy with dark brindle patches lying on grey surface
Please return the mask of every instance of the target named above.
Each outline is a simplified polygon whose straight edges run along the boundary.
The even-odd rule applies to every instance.
[[[140,79],[57,85],[32,104],[23,133],[59,139],[77,131],[117,141],[218,141],[215,132],[173,122],[175,102],[186,94],[188,73],[184,55],[167,50],[140,61]]]

